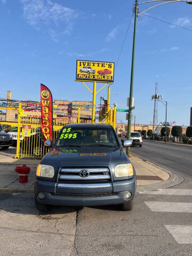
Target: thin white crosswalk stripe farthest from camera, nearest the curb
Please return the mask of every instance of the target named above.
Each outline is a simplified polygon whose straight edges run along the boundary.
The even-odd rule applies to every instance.
[[[175,195],[175,196],[192,196],[192,189],[165,189],[160,188],[151,191],[139,191],[139,194],[146,195]]]

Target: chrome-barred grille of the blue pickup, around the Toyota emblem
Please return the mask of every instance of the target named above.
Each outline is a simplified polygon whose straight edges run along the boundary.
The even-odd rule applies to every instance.
[[[89,175],[82,177],[81,171],[85,170],[89,172]],[[111,180],[110,171],[107,167],[74,167],[74,168],[62,168],[58,174],[58,182],[93,182],[93,181],[109,181]]]

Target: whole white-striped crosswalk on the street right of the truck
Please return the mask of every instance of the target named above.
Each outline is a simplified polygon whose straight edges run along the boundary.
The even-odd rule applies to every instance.
[[[145,201],[145,204],[152,212],[168,213],[192,213],[192,189],[157,189],[154,191],[139,191],[143,195],[171,195],[189,196],[190,202],[162,202],[162,201]],[[165,198],[165,197],[164,197]],[[183,198],[184,199],[184,198]],[[175,198],[173,199],[175,201]],[[167,231],[174,237],[179,244],[192,244],[192,214],[189,225],[164,225]]]

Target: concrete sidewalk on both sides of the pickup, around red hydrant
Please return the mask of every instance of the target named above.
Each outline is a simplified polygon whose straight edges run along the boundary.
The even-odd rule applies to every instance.
[[[170,178],[169,173],[139,157],[132,155],[130,161],[135,167],[138,189],[140,186],[160,183]],[[41,160],[36,159],[13,159],[11,157],[7,157],[2,163],[0,161],[0,193],[33,193],[36,167],[40,162]],[[15,167],[23,164],[26,164],[31,169],[27,183],[19,183],[19,176],[14,170]]]

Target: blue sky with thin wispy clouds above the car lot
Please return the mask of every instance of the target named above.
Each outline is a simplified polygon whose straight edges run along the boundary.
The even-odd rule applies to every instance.
[[[133,0],[0,0],[0,98],[6,98],[10,90],[13,99],[39,100],[39,85],[44,83],[54,99],[92,100],[81,82],[74,81],[76,59],[116,62],[132,6]],[[141,5],[140,11],[149,6]],[[147,14],[192,29],[192,5],[171,3]],[[132,38],[133,19],[111,85],[111,102],[118,108],[126,108],[129,97]],[[168,101],[167,121],[189,125],[191,38],[192,31],[144,15],[138,19],[133,90],[136,123],[153,121],[151,95],[158,82],[159,94]],[[107,89],[97,94],[98,103],[100,96],[106,98]],[[117,118],[126,122],[124,113]],[[158,103],[158,121],[164,118],[165,107]]]

